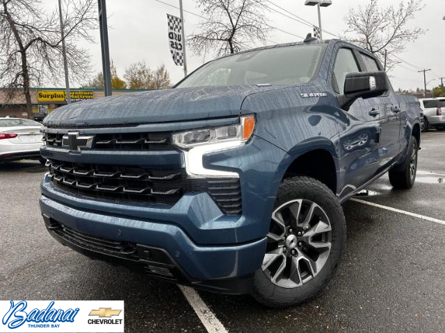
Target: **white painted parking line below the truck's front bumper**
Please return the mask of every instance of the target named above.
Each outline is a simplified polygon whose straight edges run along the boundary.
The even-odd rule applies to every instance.
[[[209,309],[204,300],[200,298],[200,295],[195,291],[195,289],[191,287],[177,285],[179,289],[181,289],[182,293],[188,300],[188,303],[193,307],[193,310],[197,314],[198,318],[202,322],[202,325],[206,327],[207,332],[209,333],[227,333],[227,330],[223,326],[223,324],[218,321],[215,314]]]

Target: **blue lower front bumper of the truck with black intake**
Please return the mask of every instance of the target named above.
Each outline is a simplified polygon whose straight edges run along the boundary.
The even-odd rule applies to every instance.
[[[51,189],[45,178],[40,209],[47,230],[61,244],[88,257],[139,266],[158,278],[221,293],[248,293],[253,273],[261,266],[266,238],[234,245],[198,245],[175,223],[121,216],[115,213],[115,204],[109,205],[108,214],[82,210],[79,203],[49,198],[54,191],[58,190]],[[63,194],[58,196],[63,200]],[[204,196],[207,194],[183,200],[206,201]],[[227,217],[225,225],[239,226]]]

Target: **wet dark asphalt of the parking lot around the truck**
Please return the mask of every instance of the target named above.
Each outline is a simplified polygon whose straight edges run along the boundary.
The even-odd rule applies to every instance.
[[[412,190],[394,191],[384,177],[359,199],[444,220],[445,133],[422,141]],[[0,299],[125,300],[126,332],[206,332],[175,284],[54,241],[37,204],[43,173],[35,162],[0,167]],[[314,300],[277,310],[199,292],[228,332],[445,332],[445,226],[352,200],[343,210],[346,253]]]

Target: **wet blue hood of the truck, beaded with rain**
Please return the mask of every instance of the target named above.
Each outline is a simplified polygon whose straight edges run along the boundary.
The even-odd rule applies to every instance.
[[[238,85],[135,92],[58,108],[44,119],[48,127],[158,123],[236,116],[245,97],[273,87]]]

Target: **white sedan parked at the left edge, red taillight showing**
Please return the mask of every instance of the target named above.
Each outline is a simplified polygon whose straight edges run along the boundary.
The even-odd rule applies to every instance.
[[[29,119],[0,118],[0,164],[29,158],[40,160],[42,124]]]

